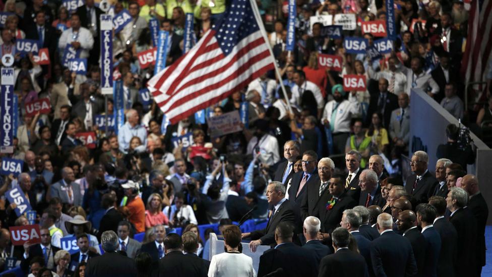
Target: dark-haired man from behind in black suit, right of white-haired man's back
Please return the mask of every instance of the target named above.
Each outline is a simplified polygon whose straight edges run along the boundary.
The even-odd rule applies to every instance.
[[[335,254],[321,260],[319,276],[368,276],[364,257],[348,249],[350,233],[337,228],[332,233]]]

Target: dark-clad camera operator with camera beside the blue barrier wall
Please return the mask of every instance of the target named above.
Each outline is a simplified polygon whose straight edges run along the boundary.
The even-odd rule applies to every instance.
[[[438,158],[450,159],[459,163],[463,169],[466,169],[466,164],[475,162],[475,153],[471,148],[473,141],[468,128],[459,128],[454,124],[449,124],[446,127],[446,137],[448,137],[448,142],[438,146]]]

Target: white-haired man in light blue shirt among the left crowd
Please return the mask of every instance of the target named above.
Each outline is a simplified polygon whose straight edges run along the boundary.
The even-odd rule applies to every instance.
[[[133,137],[139,137],[142,145],[147,146],[147,130],[139,124],[140,117],[137,110],[133,108],[127,110],[125,117],[127,123],[118,130],[118,144],[119,150],[126,154]]]

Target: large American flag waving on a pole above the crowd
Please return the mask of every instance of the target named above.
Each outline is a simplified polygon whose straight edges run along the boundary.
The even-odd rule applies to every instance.
[[[149,80],[155,102],[172,124],[274,68],[249,1],[233,0],[218,24],[190,51]]]

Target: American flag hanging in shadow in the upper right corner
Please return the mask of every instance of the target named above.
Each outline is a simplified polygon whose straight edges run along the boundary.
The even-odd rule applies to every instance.
[[[465,81],[485,81],[490,52],[492,51],[492,0],[472,0],[468,18],[468,37],[461,64]],[[483,98],[485,93],[477,95],[475,100]],[[484,99],[481,99],[484,100]]]

